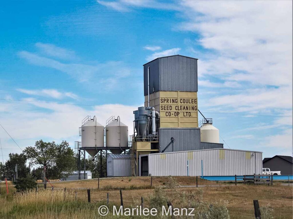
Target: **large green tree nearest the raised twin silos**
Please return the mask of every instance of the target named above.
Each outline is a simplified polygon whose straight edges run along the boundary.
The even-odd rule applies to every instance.
[[[75,168],[74,152],[66,141],[56,144],[40,140],[35,147],[26,147],[23,152],[33,164],[46,166],[47,179],[67,177]]]

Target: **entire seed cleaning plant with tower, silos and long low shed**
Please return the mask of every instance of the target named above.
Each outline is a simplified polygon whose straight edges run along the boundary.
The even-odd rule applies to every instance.
[[[106,120],[96,136],[97,120],[82,120],[79,159],[106,154],[107,176],[233,176],[262,173],[262,152],[224,149],[212,118],[198,107],[197,59],[158,57],[143,65],[144,106],[133,111],[133,135],[120,116]],[[199,117],[203,117],[199,120]],[[96,118],[94,116],[94,118]],[[118,122],[119,118],[119,122]],[[125,129],[122,132],[121,129]],[[87,131],[87,132],[86,132]],[[102,144],[97,149],[97,139]],[[122,139],[125,141],[121,142]],[[223,140],[224,141],[224,140]],[[87,144],[90,142],[90,144]],[[123,148],[121,148],[123,147]],[[83,152],[82,152],[83,150]],[[110,150],[114,154],[108,154]],[[127,151],[129,154],[117,154]],[[85,168],[85,166],[84,166]],[[102,168],[103,169],[103,168]],[[105,176],[100,173],[100,177]],[[79,177],[80,178],[80,177]]]

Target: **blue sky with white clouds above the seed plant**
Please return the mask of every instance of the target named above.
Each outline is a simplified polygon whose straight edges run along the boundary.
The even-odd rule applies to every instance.
[[[0,100],[21,148],[73,147],[87,115],[120,115],[131,134],[142,65],[180,54],[199,59],[199,109],[230,148],[292,155],[291,1],[3,1],[0,12],[0,99],[103,106]],[[20,152],[0,137],[4,159]]]

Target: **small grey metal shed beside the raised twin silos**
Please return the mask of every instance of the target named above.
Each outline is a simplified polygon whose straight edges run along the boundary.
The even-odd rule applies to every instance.
[[[107,158],[107,176],[131,176],[129,154],[110,154]]]

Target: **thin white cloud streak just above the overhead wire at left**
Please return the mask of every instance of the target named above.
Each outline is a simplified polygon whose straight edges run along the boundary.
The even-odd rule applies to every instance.
[[[60,92],[56,89],[41,89],[41,90],[29,90],[29,89],[16,89],[17,91],[29,94],[33,96],[45,96],[45,97],[52,97],[54,99],[62,99],[65,97],[70,97],[72,99],[78,99],[78,96],[72,92]]]

